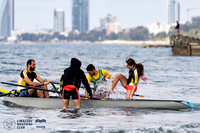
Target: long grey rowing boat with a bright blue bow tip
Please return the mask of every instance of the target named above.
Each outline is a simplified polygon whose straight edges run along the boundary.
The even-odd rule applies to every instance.
[[[14,103],[18,106],[36,107],[47,109],[61,109],[62,99],[60,98],[35,98],[35,97],[12,97],[4,96],[4,101]],[[95,99],[95,100],[81,100],[82,108],[138,108],[138,109],[191,109],[194,105],[187,101],[182,100],[150,100],[150,99]],[[69,108],[74,108],[73,101],[70,100]]]

